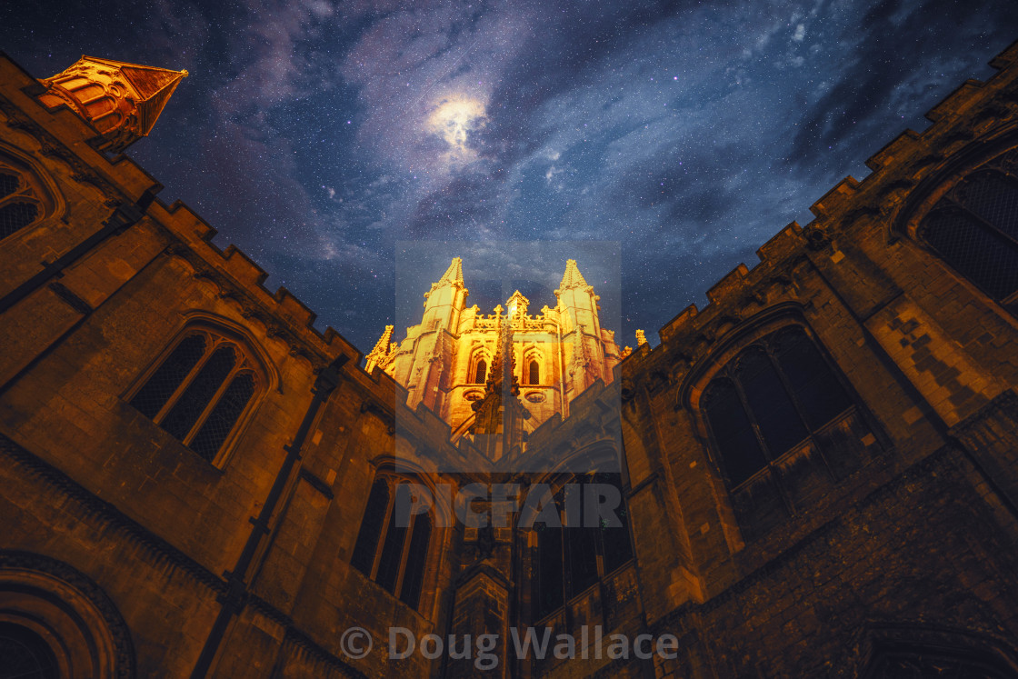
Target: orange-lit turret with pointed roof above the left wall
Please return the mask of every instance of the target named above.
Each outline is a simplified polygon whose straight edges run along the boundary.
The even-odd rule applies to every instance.
[[[120,152],[147,136],[186,70],[143,66],[82,55],[62,73],[42,80],[47,106],[67,105],[105,139],[107,151]]]

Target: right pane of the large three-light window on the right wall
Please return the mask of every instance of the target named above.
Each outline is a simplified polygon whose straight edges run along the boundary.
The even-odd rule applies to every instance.
[[[773,346],[778,365],[812,431],[815,432],[852,405],[830,364],[804,330],[792,327],[780,331]]]

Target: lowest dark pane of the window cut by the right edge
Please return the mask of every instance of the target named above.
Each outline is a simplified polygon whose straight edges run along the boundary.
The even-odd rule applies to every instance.
[[[995,299],[1018,290],[1018,248],[961,210],[923,220],[922,236],[944,260]]]

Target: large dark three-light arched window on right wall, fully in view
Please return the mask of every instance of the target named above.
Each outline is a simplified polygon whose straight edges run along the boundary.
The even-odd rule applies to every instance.
[[[799,326],[787,326],[742,349],[712,379],[700,404],[733,487],[853,406]]]

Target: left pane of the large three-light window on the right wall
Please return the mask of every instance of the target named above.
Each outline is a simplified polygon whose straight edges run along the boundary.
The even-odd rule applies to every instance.
[[[712,382],[703,394],[703,407],[728,477],[732,485],[738,486],[764,468],[767,458],[735,385],[727,379]]]

